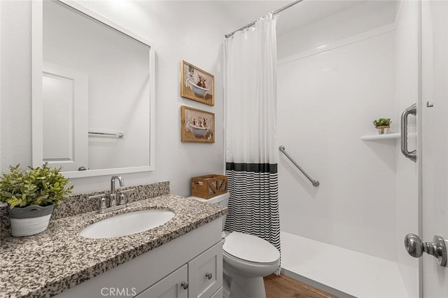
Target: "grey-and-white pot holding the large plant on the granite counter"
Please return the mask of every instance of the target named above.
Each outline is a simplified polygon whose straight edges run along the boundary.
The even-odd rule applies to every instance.
[[[54,205],[27,206],[10,209],[11,233],[15,237],[31,236],[45,231],[50,222]]]

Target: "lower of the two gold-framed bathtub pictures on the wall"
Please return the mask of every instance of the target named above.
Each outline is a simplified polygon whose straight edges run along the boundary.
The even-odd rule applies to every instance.
[[[181,106],[181,140],[215,143],[215,114]]]

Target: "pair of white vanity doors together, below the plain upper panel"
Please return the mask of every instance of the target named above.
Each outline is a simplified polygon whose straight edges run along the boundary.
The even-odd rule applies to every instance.
[[[223,246],[214,246],[144,290],[136,298],[218,298],[223,285]],[[216,293],[216,296],[215,296]],[[221,293],[222,297],[222,293]]]

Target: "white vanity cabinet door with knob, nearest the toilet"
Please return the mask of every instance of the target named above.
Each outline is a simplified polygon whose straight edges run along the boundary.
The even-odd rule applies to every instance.
[[[223,286],[223,244],[218,242],[188,262],[189,298],[210,298]]]

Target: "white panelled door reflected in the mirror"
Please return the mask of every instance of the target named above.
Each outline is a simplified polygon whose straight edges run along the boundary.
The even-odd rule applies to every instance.
[[[88,77],[43,62],[43,162],[62,171],[88,169]]]

